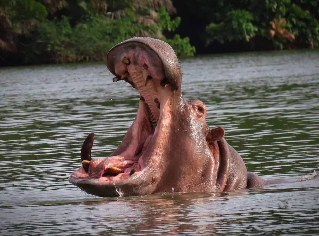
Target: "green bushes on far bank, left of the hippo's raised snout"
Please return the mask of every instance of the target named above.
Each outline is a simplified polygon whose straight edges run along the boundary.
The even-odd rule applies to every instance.
[[[140,27],[134,22],[133,12],[126,11],[121,19],[94,15],[72,28],[63,16],[59,22],[47,21],[41,25],[38,42],[56,54],[57,62],[96,61],[116,43],[138,34]]]

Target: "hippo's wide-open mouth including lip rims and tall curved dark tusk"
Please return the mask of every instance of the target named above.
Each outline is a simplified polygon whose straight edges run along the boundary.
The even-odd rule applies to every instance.
[[[108,158],[91,159],[94,134],[87,136],[81,150],[82,167],[69,178],[86,192],[102,196],[105,194],[96,194],[92,186],[125,185],[130,180],[136,185],[141,181],[155,181],[155,177],[149,180],[145,171],[160,168],[160,160],[154,156],[160,154],[167,142],[164,137],[171,123],[170,100],[176,88],[176,84],[167,79],[160,56],[142,43],[128,42],[112,48],[108,53],[108,68],[115,75],[113,82],[124,80],[139,91],[136,119]],[[89,185],[91,190],[87,188]]]

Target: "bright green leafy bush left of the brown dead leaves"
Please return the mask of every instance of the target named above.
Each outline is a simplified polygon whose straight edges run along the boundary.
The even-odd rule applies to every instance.
[[[220,43],[226,41],[249,41],[257,32],[253,25],[254,17],[249,11],[232,10],[226,14],[226,19],[218,24],[210,23],[206,26],[208,35],[206,44],[217,40]]]

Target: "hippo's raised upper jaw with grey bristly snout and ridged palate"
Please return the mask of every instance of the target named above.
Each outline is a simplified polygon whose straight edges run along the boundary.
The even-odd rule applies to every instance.
[[[107,66],[115,75],[113,82],[124,80],[139,91],[155,129],[168,98],[181,93],[182,72],[171,46],[153,38],[131,38],[109,50]]]

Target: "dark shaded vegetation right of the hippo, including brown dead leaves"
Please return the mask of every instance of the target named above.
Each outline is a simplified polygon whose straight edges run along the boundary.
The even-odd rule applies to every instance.
[[[318,0],[174,1],[197,53],[319,46]],[[189,33],[191,32],[191,33]]]

